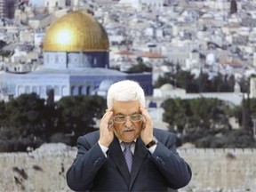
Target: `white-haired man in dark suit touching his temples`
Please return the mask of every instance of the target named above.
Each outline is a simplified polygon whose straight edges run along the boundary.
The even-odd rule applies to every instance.
[[[77,140],[77,156],[68,169],[76,191],[167,191],[191,180],[189,165],[175,148],[175,136],[153,127],[145,95],[124,80],[108,90],[108,110],[100,131]]]

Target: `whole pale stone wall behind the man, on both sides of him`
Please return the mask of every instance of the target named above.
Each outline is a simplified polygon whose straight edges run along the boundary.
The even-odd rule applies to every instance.
[[[31,153],[0,154],[0,191],[70,191],[65,174],[76,157],[76,148],[58,144]],[[255,191],[256,149],[180,148],[193,178],[179,192]]]

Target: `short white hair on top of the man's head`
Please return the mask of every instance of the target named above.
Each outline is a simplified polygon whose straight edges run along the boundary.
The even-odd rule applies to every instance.
[[[112,108],[113,101],[139,100],[141,107],[146,106],[145,94],[140,84],[132,80],[123,80],[112,84],[108,89],[107,105]]]

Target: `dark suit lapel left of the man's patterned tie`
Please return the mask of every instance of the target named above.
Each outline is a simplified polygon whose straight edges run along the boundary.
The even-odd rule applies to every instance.
[[[128,168],[124,159],[124,155],[119,144],[119,140],[116,138],[116,136],[112,141],[112,143],[109,145],[108,156],[116,164],[117,169],[124,177],[124,180],[128,186],[129,180],[130,180],[130,172],[128,171]]]

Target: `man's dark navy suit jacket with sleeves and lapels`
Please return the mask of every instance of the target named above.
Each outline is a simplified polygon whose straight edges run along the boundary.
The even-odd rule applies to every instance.
[[[174,134],[154,129],[154,136],[158,143],[152,155],[140,138],[136,141],[131,174],[116,137],[107,157],[98,144],[99,131],[79,137],[76,159],[67,172],[68,187],[76,191],[166,191],[186,186],[191,170],[176,151]]]

